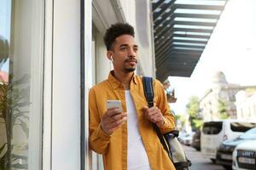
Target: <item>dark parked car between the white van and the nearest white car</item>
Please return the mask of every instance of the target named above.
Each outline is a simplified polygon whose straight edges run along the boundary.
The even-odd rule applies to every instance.
[[[236,145],[241,144],[248,140],[256,139],[256,127],[248,130],[246,133],[241,134],[236,139],[224,141],[217,150],[216,162],[223,165],[226,169],[232,167],[232,153]]]

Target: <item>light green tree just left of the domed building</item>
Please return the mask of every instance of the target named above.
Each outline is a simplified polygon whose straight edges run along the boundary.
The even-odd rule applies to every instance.
[[[189,122],[193,130],[201,127],[201,118],[199,114],[199,99],[197,96],[191,96],[189,98],[189,104],[186,105],[187,113],[189,114]]]

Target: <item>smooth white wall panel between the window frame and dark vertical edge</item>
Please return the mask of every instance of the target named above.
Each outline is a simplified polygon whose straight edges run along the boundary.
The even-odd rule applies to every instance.
[[[53,16],[52,169],[80,169],[80,0]]]

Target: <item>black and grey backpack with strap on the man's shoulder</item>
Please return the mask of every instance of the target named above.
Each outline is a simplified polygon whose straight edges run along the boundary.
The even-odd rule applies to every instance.
[[[148,101],[148,107],[154,106],[154,89],[153,89],[153,79],[152,77],[143,77],[143,88],[144,94]],[[162,134],[160,129],[153,123],[154,131],[157,133],[161,144],[168,153],[174,167],[177,170],[188,170],[191,166],[191,161],[189,161],[186,156],[182,144],[177,140],[178,131],[173,130],[170,133]]]

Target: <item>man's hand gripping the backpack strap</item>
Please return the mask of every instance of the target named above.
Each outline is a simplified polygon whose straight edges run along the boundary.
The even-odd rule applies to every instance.
[[[162,127],[165,123],[165,117],[157,107],[143,106],[143,111],[150,122],[154,122],[158,127]]]

